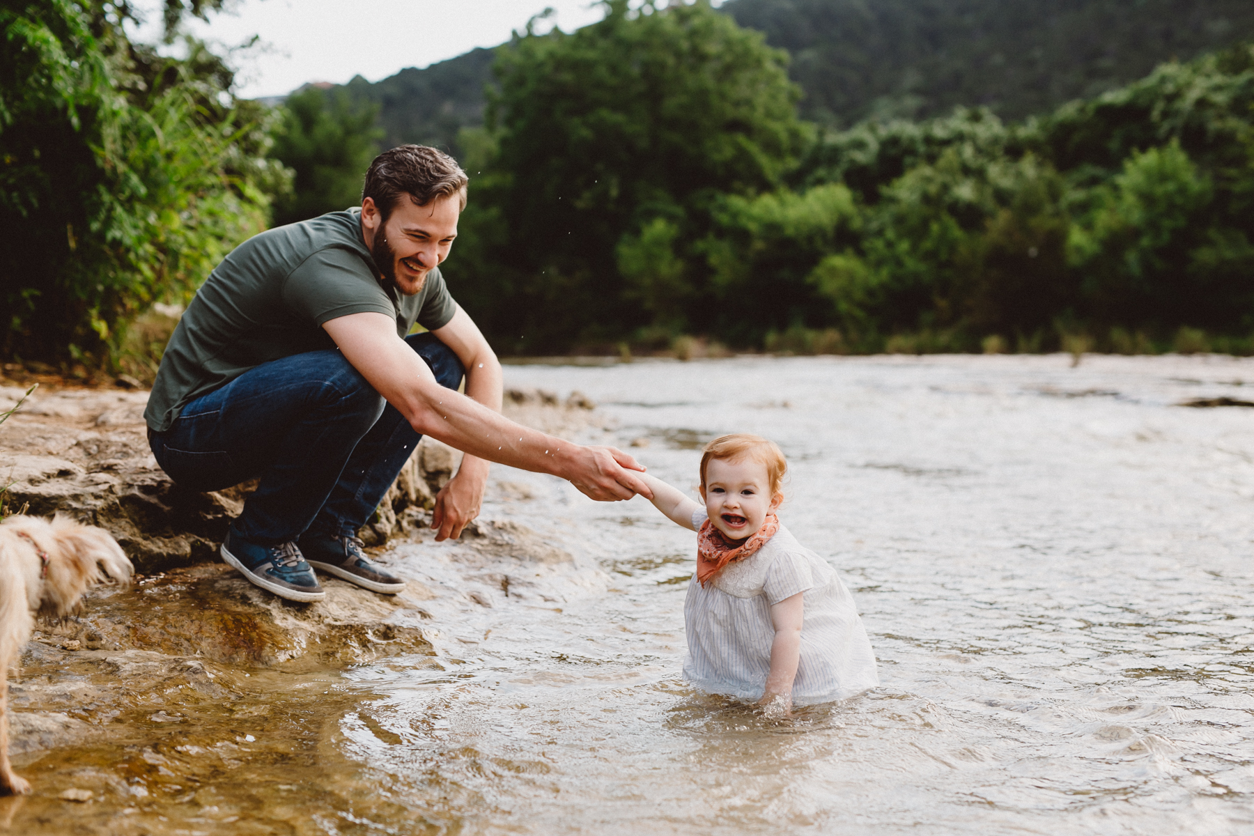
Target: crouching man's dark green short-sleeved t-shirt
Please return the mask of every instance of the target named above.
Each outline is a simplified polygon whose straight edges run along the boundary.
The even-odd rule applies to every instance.
[[[144,420],[169,429],[192,400],[226,386],[255,366],[335,348],[322,323],[376,311],[405,336],[415,322],[434,331],[456,303],[439,268],[414,296],[382,288],[361,239],[361,211],[332,212],[277,227],[236,247],[187,306],[166,346]]]

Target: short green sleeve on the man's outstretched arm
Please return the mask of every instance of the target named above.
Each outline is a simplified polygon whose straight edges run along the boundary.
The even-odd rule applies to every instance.
[[[396,318],[396,308],[361,257],[336,247],[317,251],[288,273],[282,298],[287,310],[319,327],[367,311]]]

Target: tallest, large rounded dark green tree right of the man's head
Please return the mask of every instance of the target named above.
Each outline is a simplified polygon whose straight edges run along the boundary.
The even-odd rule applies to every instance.
[[[498,244],[465,283],[494,300],[474,313],[515,348],[658,318],[702,327],[703,259],[690,248],[720,194],[772,189],[804,139],[785,55],[761,35],[706,0],[603,5],[598,24],[500,51],[497,152],[466,217]]]

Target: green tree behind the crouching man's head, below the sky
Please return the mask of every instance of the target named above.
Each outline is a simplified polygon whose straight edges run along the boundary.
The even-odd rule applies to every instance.
[[[379,153],[379,108],[355,105],[342,89],[307,86],[287,97],[270,157],[295,173],[275,201],[275,224],[293,223],[361,203],[361,184]]]

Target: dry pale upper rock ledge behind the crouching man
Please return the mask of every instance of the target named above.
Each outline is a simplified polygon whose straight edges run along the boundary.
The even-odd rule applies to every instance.
[[[0,411],[25,390],[0,386]],[[69,514],[108,529],[142,574],[216,560],[217,544],[252,484],[196,493],[157,466],[143,422],[148,394],[99,389],[38,390],[0,425],[0,486],[10,508]],[[569,434],[597,422],[592,404],[544,391],[512,390],[505,410],[528,426]],[[430,510],[460,454],[424,439],[361,531],[382,545]]]

